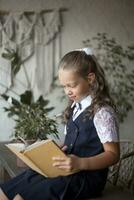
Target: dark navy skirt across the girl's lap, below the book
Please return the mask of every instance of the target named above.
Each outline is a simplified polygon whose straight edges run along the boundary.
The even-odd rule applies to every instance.
[[[88,174],[88,176],[87,176]],[[105,181],[95,173],[45,178],[29,169],[0,185],[9,200],[20,194],[24,200],[81,200],[100,194]]]

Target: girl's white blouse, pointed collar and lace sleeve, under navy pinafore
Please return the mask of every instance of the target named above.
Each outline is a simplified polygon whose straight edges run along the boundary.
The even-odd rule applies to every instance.
[[[73,121],[91,104],[91,97],[87,96],[84,98],[80,105],[78,103],[73,103],[75,105],[73,111]],[[100,138],[101,143],[106,142],[118,142],[119,141],[119,128],[117,123],[117,118],[114,110],[110,106],[102,107],[98,112],[96,112],[94,119],[94,126],[96,128],[97,134]],[[66,128],[65,128],[66,134]]]

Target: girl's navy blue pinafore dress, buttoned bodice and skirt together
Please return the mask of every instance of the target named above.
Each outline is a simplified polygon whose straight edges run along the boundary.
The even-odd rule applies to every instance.
[[[82,112],[67,123],[65,145],[67,154],[89,157],[104,151],[93,119]],[[100,194],[104,189],[108,169],[80,171],[69,176],[45,178],[29,169],[0,185],[9,200],[20,194],[24,200],[83,200]]]

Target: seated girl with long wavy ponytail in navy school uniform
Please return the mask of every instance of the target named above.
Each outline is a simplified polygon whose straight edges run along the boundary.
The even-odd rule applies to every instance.
[[[59,80],[71,104],[64,112],[67,159],[54,167],[77,173],[45,178],[32,170],[1,185],[1,200],[83,200],[100,195],[108,167],[119,160],[118,126],[102,68],[89,49],[67,53]]]

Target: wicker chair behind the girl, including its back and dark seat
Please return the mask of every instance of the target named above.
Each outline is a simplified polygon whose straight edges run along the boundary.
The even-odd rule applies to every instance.
[[[121,140],[120,152],[119,162],[109,169],[106,188],[102,196],[89,198],[90,200],[133,199],[134,143],[128,140]]]

